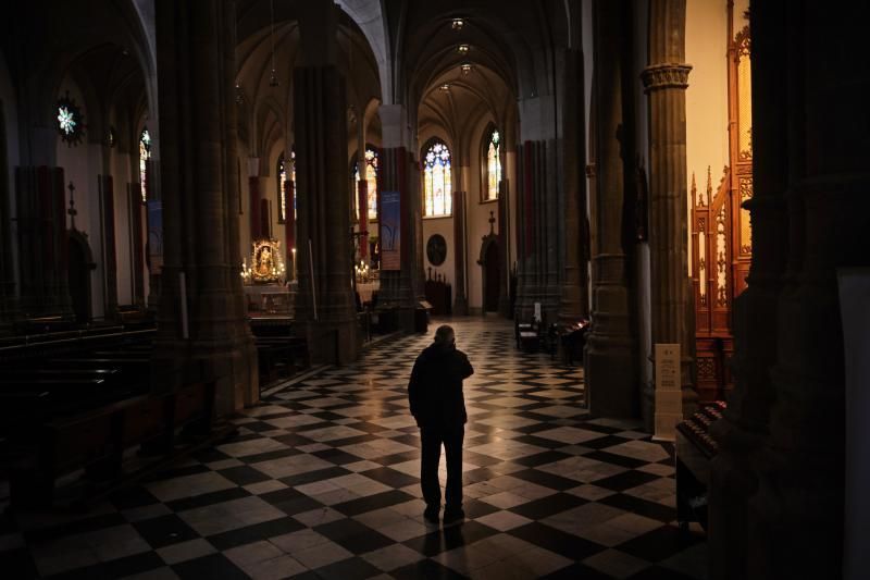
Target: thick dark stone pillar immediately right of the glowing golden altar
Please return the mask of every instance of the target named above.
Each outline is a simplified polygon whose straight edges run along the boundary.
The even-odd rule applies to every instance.
[[[351,288],[350,198],[345,79],[335,65],[336,8],[300,9],[302,65],[294,71],[299,295],[315,361],[357,359],[357,317]]]

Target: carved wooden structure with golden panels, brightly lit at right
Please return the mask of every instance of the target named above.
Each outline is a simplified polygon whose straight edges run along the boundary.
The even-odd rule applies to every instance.
[[[701,400],[723,398],[732,386],[732,306],[746,288],[753,257],[749,212],[753,196],[751,79],[749,28],[732,34],[729,18],[729,160],[713,189],[707,169],[698,189],[692,175],[693,275],[697,384]]]

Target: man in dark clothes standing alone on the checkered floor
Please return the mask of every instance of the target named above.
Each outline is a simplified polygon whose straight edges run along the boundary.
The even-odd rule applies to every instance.
[[[444,325],[435,331],[435,341],[417,357],[408,383],[411,414],[420,428],[422,457],[420,484],[426,509],[423,516],[438,522],[442,490],[438,483],[438,461],[442,445],[447,454],[445,526],[465,517],[462,511],[462,439],[465,435],[465,399],[462,380],[474,369],[469,357],[456,348],[453,329]]]

